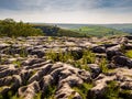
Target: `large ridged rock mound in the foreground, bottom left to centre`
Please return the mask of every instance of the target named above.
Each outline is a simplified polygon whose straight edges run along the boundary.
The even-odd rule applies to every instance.
[[[77,91],[73,90],[72,87],[91,81],[89,72],[75,68],[72,65],[56,63],[43,64],[42,66],[36,67],[34,65],[35,63],[38,64],[37,62],[40,62],[40,59],[33,61],[34,64],[26,63],[26,66],[20,68],[21,70],[19,73],[13,73],[13,70],[11,70],[12,76],[4,75],[4,78],[1,76],[0,86],[11,86],[11,89],[18,90],[20,97],[24,99],[33,99],[37,96],[38,91],[42,91],[44,98],[44,95],[46,94],[45,91],[50,86],[52,87],[54,85],[56,86],[55,97],[57,99],[67,99],[70,96],[81,99],[81,96]],[[40,64],[41,63],[44,62],[41,61]],[[33,68],[26,68],[29,64],[29,67],[33,66]],[[1,94],[8,94],[8,91],[2,89]]]

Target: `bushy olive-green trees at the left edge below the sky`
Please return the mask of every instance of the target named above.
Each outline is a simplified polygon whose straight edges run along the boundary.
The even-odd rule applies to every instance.
[[[30,23],[15,22],[13,19],[0,20],[0,36],[37,36],[44,35],[41,29],[35,29]]]

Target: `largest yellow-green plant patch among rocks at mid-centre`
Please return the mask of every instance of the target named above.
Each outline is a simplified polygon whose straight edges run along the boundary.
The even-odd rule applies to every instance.
[[[77,68],[90,70],[88,64],[94,64],[96,62],[96,55],[89,50],[84,50],[81,55],[77,52],[65,52],[59,51],[48,51],[46,53],[46,59],[52,59],[52,62],[63,62],[74,65]]]

